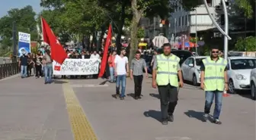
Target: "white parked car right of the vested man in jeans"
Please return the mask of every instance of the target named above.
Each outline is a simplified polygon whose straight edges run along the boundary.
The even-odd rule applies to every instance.
[[[229,93],[235,94],[237,90],[250,90],[250,73],[254,68],[256,68],[256,58],[229,57],[227,65]]]

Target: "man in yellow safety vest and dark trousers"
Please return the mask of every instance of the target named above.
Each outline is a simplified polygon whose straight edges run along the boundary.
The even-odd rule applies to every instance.
[[[167,125],[168,121],[174,121],[173,113],[178,102],[178,87],[183,87],[179,62],[180,58],[171,54],[169,43],[163,45],[163,54],[158,54],[154,62],[152,87],[158,87],[163,125]]]

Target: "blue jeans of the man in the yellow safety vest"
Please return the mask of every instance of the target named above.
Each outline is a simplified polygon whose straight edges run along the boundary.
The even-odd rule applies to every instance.
[[[222,107],[222,92],[220,91],[206,91],[206,102],[204,106],[204,113],[209,114],[210,108],[213,104],[213,98],[215,97],[215,108],[213,112],[213,119],[219,119],[221,107]]]

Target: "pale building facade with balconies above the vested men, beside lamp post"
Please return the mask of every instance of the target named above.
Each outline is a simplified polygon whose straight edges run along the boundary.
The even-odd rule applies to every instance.
[[[206,0],[210,14],[218,21],[218,11],[221,0]],[[168,39],[174,36],[196,36],[198,31],[209,30],[215,27],[204,4],[199,5],[194,11],[185,11],[181,5],[177,5],[168,19]]]

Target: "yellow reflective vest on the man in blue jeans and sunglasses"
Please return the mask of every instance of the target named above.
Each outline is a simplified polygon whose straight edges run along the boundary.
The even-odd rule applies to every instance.
[[[218,61],[213,61],[210,57],[203,59],[204,65],[204,90],[205,91],[224,91],[225,79],[224,70],[227,61],[219,58]]]

